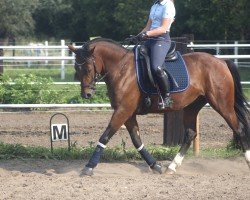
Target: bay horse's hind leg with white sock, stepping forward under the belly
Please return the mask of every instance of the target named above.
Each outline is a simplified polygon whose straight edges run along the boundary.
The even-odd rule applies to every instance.
[[[167,173],[173,174],[176,172],[177,167],[182,164],[185,154],[189,149],[191,142],[197,135],[196,130],[196,118],[200,111],[200,109],[205,105],[204,99],[198,99],[196,103],[189,105],[188,107],[184,108],[183,112],[183,123],[185,128],[185,137],[184,141],[182,142],[181,148],[173,161],[168,166]]]

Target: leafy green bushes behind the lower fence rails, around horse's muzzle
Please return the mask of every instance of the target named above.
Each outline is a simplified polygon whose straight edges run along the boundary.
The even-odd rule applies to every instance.
[[[10,82],[14,82],[11,85]],[[97,86],[92,99],[83,99],[79,85],[54,85],[51,78],[21,74],[15,79],[3,75],[0,80],[2,104],[107,103],[106,86]]]

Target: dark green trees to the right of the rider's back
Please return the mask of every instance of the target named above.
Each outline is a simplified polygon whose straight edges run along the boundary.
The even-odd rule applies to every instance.
[[[174,34],[192,33],[196,40],[250,39],[248,0],[182,0],[175,4]]]

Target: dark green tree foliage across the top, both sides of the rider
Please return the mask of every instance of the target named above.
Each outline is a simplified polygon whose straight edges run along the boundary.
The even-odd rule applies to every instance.
[[[121,41],[145,25],[154,0],[0,0],[0,39],[33,37]],[[195,40],[249,40],[250,1],[175,0],[172,35]]]

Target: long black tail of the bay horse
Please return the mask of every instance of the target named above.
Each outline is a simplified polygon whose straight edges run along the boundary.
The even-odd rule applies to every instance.
[[[228,69],[230,70],[233,80],[234,80],[234,109],[237,115],[238,120],[243,124],[244,126],[244,132],[246,136],[245,142],[248,144],[248,148],[250,148],[250,126],[249,126],[249,120],[250,120],[250,112],[248,108],[250,108],[250,105],[247,102],[246,97],[243,94],[242,86],[241,86],[241,80],[240,80],[240,74],[237,70],[237,66],[234,64],[231,60],[225,60],[227,63]]]

